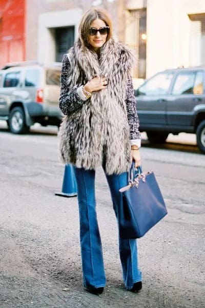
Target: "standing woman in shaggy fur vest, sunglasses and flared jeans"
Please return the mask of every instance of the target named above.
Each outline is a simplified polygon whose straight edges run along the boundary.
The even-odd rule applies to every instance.
[[[95,169],[104,168],[117,217],[122,202],[119,188],[128,183],[131,161],[140,165],[132,63],[131,52],[113,38],[111,20],[101,9],[84,14],[79,38],[62,62],[59,106],[66,117],[59,130],[61,160],[74,166],[84,286],[94,294],[102,293],[106,285],[95,211]],[[127,290],[139,291],[136,241],[119,238],[119,253]]]

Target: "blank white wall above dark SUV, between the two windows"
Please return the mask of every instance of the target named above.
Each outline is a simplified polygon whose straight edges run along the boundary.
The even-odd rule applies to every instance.
[[[205,0],[147,1],[147,78],[159,70],[190,65],[188,14],[205,13]]]

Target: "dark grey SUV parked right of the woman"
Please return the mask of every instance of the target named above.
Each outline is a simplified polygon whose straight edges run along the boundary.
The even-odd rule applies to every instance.
[[[135,90],[140,131],[151,143],[164,143],[171,132],[196,133],[205,153],[205,68],[157,73]]]

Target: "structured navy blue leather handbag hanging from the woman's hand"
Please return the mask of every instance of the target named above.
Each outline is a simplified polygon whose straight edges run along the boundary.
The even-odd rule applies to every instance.
[[[118,208],[120,238],[140,238],[167,215],[165,201],[153,172],[145,175],[141,167],[135,170],[133,163],[129,184],[119,191],[123,200]]]

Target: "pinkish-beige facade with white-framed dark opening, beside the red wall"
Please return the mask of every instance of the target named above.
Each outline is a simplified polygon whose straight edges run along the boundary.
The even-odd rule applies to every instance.
[[[113,18],[118,24],[117,3],[118,1],[96,0],[27,0],[27,60],[61,61],[63,54],[76,40],[83,12],[99,6],[106,7],[112,13],[115,7]]]

